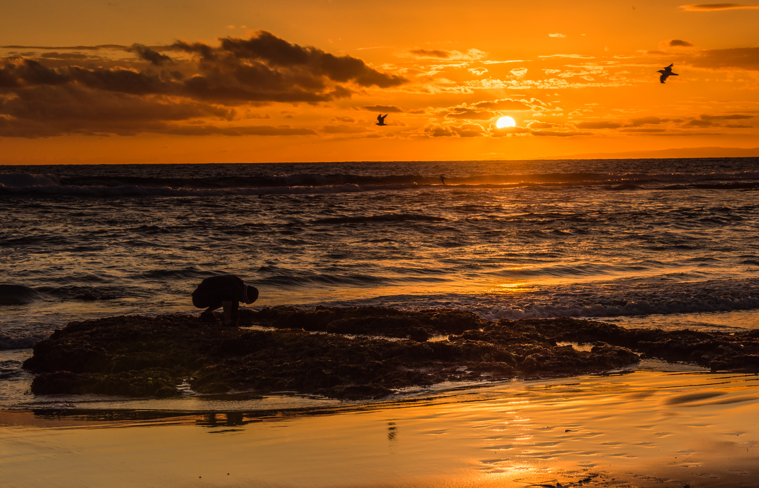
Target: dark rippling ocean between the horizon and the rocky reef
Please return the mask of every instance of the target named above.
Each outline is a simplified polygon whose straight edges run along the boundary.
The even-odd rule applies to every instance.
[[[759,158],[0,166],[0,407],[73,320],[250,307],[454,307],[759,328]],[[441,178],[442,176],[442,178]],[[65,399],[66,405],[76,402]]]

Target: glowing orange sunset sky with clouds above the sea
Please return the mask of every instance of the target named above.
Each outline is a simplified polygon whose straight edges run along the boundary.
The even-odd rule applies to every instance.
[[[682,0],[6,2],[0,164],[756,147],[757,25]]]

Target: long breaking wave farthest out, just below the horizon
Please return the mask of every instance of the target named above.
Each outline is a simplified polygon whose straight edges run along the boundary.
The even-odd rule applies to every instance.
[[[689,187],[745,189],[756,186],[745,181],[759,179],[759,172],[735,173],[533,173],[524,175],[474,175],[446,177],[446,186],[519,187],[616,185],[613,190],[638,190],[641,184],[671,184],[658,189],[676,190]],[[701,183],[698,183],[701,181]],[[714,181],[715,183],[704,183]],[[716,181],[739,181],[738,184]],[[672,184],[673,183],[673,184]],[[320,194],[351,191],[393,190],[411,187],[442,186],[439,176],[423,175],[351,175],[311,174],[234,176],[205,178],[158,178],[127,176],[58,177],[51,174],[3,173],[0,190],[11,193],[90,195],[158,195],[158,196],[225,196],[267,194]],[[484,186],[487,187],[487,186]]]

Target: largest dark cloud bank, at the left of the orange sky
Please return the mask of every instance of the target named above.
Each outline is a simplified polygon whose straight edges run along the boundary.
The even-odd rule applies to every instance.
[[[172,46],[36,46],[54,52],[0,58],[2,134],[316,134],[298,128],[217,127],[197,119],[228,120],[235,114],[230,107],[238,105],[316,104],[350,97],[354,89],[406,82],[361,59],[291,44],[265,31],[250,39],[219,41],[219,46],[183,41]],[[93,57],[60,53],[74,49],[120,49],[138,60],[87,61]],[[191,59],[172,59],[162,51],[185,52]],[[87,62],[68,65],[67,60]],[[161,69],[168,64],[172,71]],[[194,123],[183,128],[181,121]]]

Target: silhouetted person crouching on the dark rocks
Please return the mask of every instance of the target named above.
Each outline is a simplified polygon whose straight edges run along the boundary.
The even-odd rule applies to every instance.
[[[192,292],[192,304],[206,310],[200,320],[215,322],[213,310],[224,307],[224,325],[237,327],[240,319],[238,302],[252,304],[258,298],[258,288],[245,283],[235,275],[211,276],[206,278]]]

